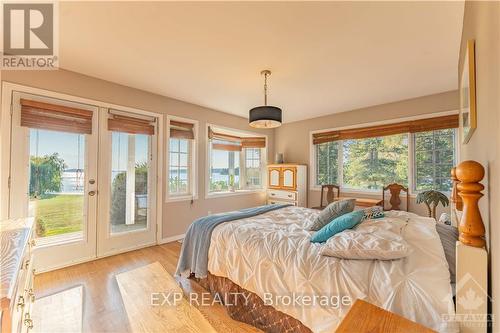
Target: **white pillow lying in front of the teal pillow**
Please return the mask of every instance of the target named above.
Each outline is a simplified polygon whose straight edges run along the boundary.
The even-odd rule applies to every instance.
[[[389,230],[346,230],[330,238],[320,254],[341,259],[394,260],[408,256],[409,251],[406,241]]]

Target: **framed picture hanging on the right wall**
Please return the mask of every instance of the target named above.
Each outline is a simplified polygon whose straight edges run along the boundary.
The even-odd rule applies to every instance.
[[[474,40],[468,40],[460,76],[460,128],[464,144],[469,142],[477,127],[475,63]]]

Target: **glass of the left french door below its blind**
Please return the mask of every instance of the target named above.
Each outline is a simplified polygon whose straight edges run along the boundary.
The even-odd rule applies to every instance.
[[[30,129],[29,215],[37,237],[81,238],[85,220],[85,136]]]

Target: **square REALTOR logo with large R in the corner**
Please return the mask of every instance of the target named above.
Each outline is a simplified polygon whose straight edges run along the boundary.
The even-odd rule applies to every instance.
[[[3,3],[2,69],[57,69],[57,4]]]

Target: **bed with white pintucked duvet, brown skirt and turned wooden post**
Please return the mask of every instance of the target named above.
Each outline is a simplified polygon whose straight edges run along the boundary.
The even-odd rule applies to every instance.
[[[176,275],[198,272],[202,285],[229,303],[231,317],[266,332],[333,332],[356,299],[439,332],[486,332],[488,264],[478,206],[484,174],[474,161],[452,171],[451,212],[459,227],[456,304],[435,221],[407,212],[387,212],[377,221],[401,226],[411,248],[407,257],[392,261],[320,255],[322,245],[311,243],[312,232],[304,228],[319,214],[312,209],[260,207],[205,217],[188,230]],[[297,296],[337,297],[337,302],[295,303]],[[338,301],[344,296],[349,302]]]

